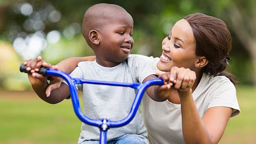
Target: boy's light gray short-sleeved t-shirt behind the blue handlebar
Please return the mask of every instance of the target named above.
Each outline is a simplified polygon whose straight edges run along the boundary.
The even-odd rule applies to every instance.
[[[141,83],[152,74],[155,74],[154,70],[146,64],[146,61],[130,55],[124,62],[112,68],[100,66],[96,61],[80,62],[70,76],[87,80]],[[108,118],[117,121],[125,118],[136,95],[135,90],[129,87],[79,84],[77,88],[83,94],[84,114],[92,119]],[[82,123],[81,131],[78,143],[83,140],[99,140],[99,128]],[[121,128],[110,128],[107,139],[114,140],[127,134],[138,134],[147,142],[141,107],[129,124]]]

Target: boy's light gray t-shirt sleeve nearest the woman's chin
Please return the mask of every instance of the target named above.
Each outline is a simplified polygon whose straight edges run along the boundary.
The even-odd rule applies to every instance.
[[[134,56],[132,62],[132,71],[135,78],[140,83],[142,83],[146,77],[150,75],[156,75],[154,69],[148,64],[148,62],[144,58],[141,58],[140,56]]]

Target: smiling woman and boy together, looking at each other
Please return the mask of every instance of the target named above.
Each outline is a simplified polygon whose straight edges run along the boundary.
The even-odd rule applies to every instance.
[[[56,66],[40,56],[25,60],[32,88],[52,104],[69,97],[61,78],[36,73],[41,66],[75,78],[115,82],[145,82],[158,75],[164,85],[148,88],[135,118],[108,131],[108,144],[217,144],[229,118],[240,113],[236,80],[225,71],[232,48],[226,24],[202,13],[185,16],[162,40],[160,58],[130,54],[132,33],[132,16],[121,6],[91,6],[84,14],[82,34],[95,56],[68,58]],[[135,96],[129,88],[88,84],[77,88],[83,94],[85,115],[94,119],[124,118]],[[82,123],[78,144],[98,140],[98,128]]]

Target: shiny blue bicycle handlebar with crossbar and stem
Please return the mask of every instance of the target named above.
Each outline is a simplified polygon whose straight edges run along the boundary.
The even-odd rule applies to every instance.
[[[25,73],[30,73],[29,71],[26,70],[26,66],[23,64],[20,65],[20,72],[25,72]],[[151,79],[148,80],[142,84],[140,83],[120,83],[120,82],[106,82],[106,81],[96,81],[96,80],[85,80],[85,79],[80,79],[80,78],[71,78],[67,73],[59,71],[59,70],[54,70],[50,68],[40,68],[39,72],[40,74],[44,76],[58,76],[66,80],[68,83],[69,89],[70,89],[70,96],[73,104],[74,111],[76,113],[76,116],[84,123],[91,125],[91,126],[97,126],[100,129],[100,144],[106,144],[107,142],[107,131],[109,128],[117,128],[124,126],[128,124],[135,116],[138,107],[140,105],[142,96],[146,89],[149,86],[153,85],[162,85],[164,84],[163,80],[160,78],[156,79]],[[76,90],[75,84],[101,84],[101,85],[109,85],[109,86],[125,86],[125,87],[130,87],[138,90],[136,92],[136,96],[134,99],[134,102],[132,104],[132,108],[126,116],[126,118],[119,120],[119,121],[111,121],[106,118],[94,120],[90,119],[87,116],[84,115],[80,108],[79,104],[79,99],[78,99],[78,93]]]

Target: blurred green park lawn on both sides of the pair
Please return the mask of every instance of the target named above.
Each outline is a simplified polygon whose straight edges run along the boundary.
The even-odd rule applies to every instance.
[[[241,114],[230,118],[220,144],[256,143],[256,89],[238,86]],[[47,104],[34,92],[0,91],[0,144],[75,144],[81,122],[70,100]]]

